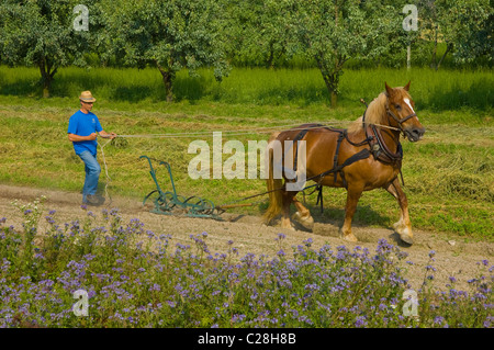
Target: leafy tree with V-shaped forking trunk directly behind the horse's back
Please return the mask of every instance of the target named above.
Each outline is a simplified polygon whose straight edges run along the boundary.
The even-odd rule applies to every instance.
[[[400,18],[380,1],[305,0],[297,3],[293,19],[300,49],[315,59],[335,106],[345,63],[384,53],[386,33]]]

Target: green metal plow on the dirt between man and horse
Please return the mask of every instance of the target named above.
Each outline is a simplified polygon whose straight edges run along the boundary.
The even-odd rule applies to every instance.
[[[147,200],[151,200],[155,204],[154,208],[150,211],[155,214],[164,214],[164,215],[180,215],[180,216],[189,216],[189,217],[207,217],[214,218],[217,221],[223,221],[220,215],[224,213],[224,210],[216,207],[214,203],[210,200],[202,199],[197,195],[192,196],[183,196],[177,194],[177,190],[173,183],[173,176],[171,173],[171,167],[167,161],[151,159],[147,156],[141,156],[141,158],[146,158],[149,162],[149,173],[155,181],[156,190],[149,192],[143,201],[143,205],[146,204]],[[156,178],[156,171],[153,167],[153,162],[157,161],[160,166],[165,166],[168,170],[171,191],[162,191],[161,187],[158,183]]]

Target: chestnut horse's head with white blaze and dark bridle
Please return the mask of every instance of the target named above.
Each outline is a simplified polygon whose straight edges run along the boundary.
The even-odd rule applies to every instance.
[[[408,94],[409,81],[404,88],[390,88],[385,83],[388,105],[386,113],[393,117],[397,127],[411,142],[419,140],[425,134],[425,127],[418,121],[414,111],[415,103]]]

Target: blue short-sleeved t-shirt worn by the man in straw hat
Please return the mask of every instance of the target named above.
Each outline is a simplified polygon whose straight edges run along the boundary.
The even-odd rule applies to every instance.
[[[92,133],[99,133],[102,129],[100,121],[94,113],[89,112],[88,114],[85,114],[79,110],[70,116],[67,133],[79,136],[89,136]],[[80,155],[85,150],[89,150],[93,156],[97,154],[98,143],[96,139],[74,142],[72,144],[76,155]]]

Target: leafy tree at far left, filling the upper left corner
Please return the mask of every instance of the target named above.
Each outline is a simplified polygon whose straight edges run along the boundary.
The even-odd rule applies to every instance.
[[[0,4],[0,55],[10,66],[34,65],[43,95],[49,95],[58,68],[85,66],[89,33],[74,29],[72,0],[4,0]],[[91,2],[91,1],[86,1]]]

